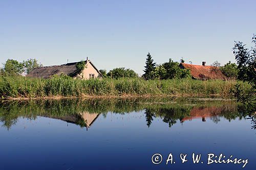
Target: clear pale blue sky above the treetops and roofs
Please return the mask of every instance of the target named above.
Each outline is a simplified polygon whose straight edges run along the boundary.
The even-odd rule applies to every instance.
[[[139,74],[148,52],[157,64],[225,64],[234,62],[234,40],[251,46],[255,20],[255,0],[0,0],[0,58],[58,65],[89,57],[98,69]]]

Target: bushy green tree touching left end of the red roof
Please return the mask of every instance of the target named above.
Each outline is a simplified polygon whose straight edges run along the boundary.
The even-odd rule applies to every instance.
[[[164,79],[183,79],[190,76],[188,69],[180,68],[179,63],[174,62],[172,59],[169,59],[168,62],[163,63],[163,67],[166,70]]]

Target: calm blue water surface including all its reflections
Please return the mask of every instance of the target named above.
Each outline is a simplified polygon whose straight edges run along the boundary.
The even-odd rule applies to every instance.
[[[0,169],[255,169],[256,130],[247,118],[220,99],[7,102]],[[155,153],[160,164],[152,163]],[[170,153],[176,163],[166,165]],[[249,163],[207,165],[209,153]]]

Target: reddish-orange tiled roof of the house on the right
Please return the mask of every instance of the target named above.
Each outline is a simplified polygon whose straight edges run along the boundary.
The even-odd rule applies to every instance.
[[[209,65],[193,65],[180,63],[181,68],[190,70],[190,74],[194,79],[208,80],[208,79],[221,79],[225,80],[226,76],[222,74],[219,67]]]

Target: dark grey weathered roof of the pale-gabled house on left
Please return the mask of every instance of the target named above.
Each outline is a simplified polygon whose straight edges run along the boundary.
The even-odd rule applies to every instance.
[[[87,63],[87,61],[85,61]],[[99,72],[99,70],[93,65],[93,63],[89,60],[92,66]],[[62,65],[53,65],[53,66],[44,66],[34,68],[27,76],[28,77],[38,77],[38,78],[50,78],[53,75],[68,75],[71,77],[75,77],[79,72],[76,68],[76,63],[67,63]],[[99,72],[100,74],[100,72]]]

